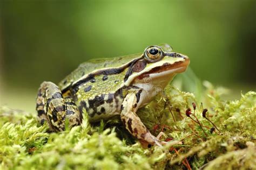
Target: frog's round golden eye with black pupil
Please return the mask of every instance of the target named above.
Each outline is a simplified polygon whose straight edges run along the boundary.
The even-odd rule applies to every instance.
[[[144,52],[144,56],[145,56],[146,60],[149,62],[156,62],[156,61],[160,60],[162,57],[162,54],[163,54],[163,52],[162,52],[161,48],[158,46],[147,47]]]

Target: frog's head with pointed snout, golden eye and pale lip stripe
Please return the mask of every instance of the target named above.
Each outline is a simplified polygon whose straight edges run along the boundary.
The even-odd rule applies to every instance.
[[[186,55],[173,52],[170,45],[149,46],[129,68],[125,85],[152,82],[165,86],[177,73],[184,72],[189,63]]]

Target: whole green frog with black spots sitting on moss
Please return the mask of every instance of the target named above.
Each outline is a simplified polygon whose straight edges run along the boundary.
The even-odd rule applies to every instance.
[[[185,72],[188,56],[168,44],[151,45],[143,53],[84,62],[58,84],[44,81],[38,89],[39,122],[50,130],[65,131],[118,116],[133,137],[142,143],[162,146],[158,135],[146,128],[136,114],[163,92],[173,77]]]

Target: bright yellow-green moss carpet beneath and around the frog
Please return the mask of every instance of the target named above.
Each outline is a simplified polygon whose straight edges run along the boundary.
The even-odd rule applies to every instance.
[[[226,89],[204,85],[203,105],[193,94],[169,86],[138,111],[154,135],[164,131],[161,139],[170,140],[148,149],[118,119],[98,125],[85,119],[82,126],[48,133],[36,115],[1,107],[1,169],[255,169],[256,93],[224,101]],[[205,108],[212,123],[202,115]]]

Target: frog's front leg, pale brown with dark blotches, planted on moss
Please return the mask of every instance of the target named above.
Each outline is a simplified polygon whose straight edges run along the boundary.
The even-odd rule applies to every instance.
[[[140,121],[140,118],[135,113],[137,111],[137,97],[136,94],[127,94],[124,98],[121,107],[121,119],[125,128],[136,138],[142,140],[147,144],[156,144],[161,146],[163,142],[154,137],[153,134],[147,130],[146,126]]]

